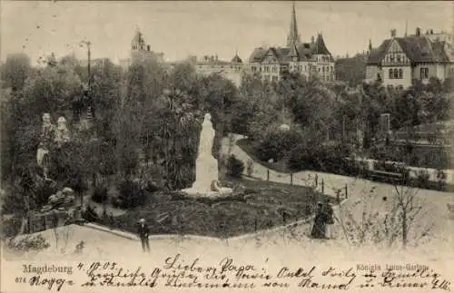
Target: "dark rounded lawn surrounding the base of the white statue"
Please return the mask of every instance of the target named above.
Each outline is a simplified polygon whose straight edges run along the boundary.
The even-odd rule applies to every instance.
[[[158,192],[144,206],[101,223],[135,233],[137,220],[143,218],[152,234],[227,238],[306,219],[321,197],[334,201],[302,186],[247,180],[224,184],[234,188],[232,196],[207,199],[190,198],[180,192]]]

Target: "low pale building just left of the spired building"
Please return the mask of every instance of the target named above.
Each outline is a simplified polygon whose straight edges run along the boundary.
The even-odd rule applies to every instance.
[[[203,56],[203,59],[195,62],[195,71],[202,75],[213,73],[221,74],[224,78],[231,80],[236,86],[242,83],[242,74],[247,67],[242,63],[242,58],[237,54],[230,62],[221,61],[218,56]]]

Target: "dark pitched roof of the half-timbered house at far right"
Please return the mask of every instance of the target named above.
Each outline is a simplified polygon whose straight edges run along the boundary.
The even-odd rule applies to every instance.
[[[426,35],[410,35],[384,40],[379,48],[370,52],[368,64],[379,64],[393,40],[398,42],[400,48],[402,48],[402,51],[410,58],[412,63],[449,62],[444,41],[432,42]]]

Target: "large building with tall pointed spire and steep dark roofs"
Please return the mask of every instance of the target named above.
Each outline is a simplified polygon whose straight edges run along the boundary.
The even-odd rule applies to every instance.
[[[277,82],[287,73],[301,73],[318,77],[321,81],[335,79],[334,59],[322,34],[301,43],[296,21],[295,5],[291,11],[291,27],[285,47],[256,48],[249,58],[252,73],[260,73],[263,80]]]

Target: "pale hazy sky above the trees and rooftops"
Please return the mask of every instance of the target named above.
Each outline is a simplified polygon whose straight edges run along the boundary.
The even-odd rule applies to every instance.
[[[254,47],[284,46],[290,29],[287,1],[0,1],[0,59],[28,54],[32,62],[54,53],[86,59],[79,46],[90,41],[93,58],[116,62],[130,54],[136,28],[168,61],[188,55],[249,58]],[[451,2],[295,2],[301,41],[321,33],[331,54],[356,54],[416,27],[423,32],[453,27]]]

